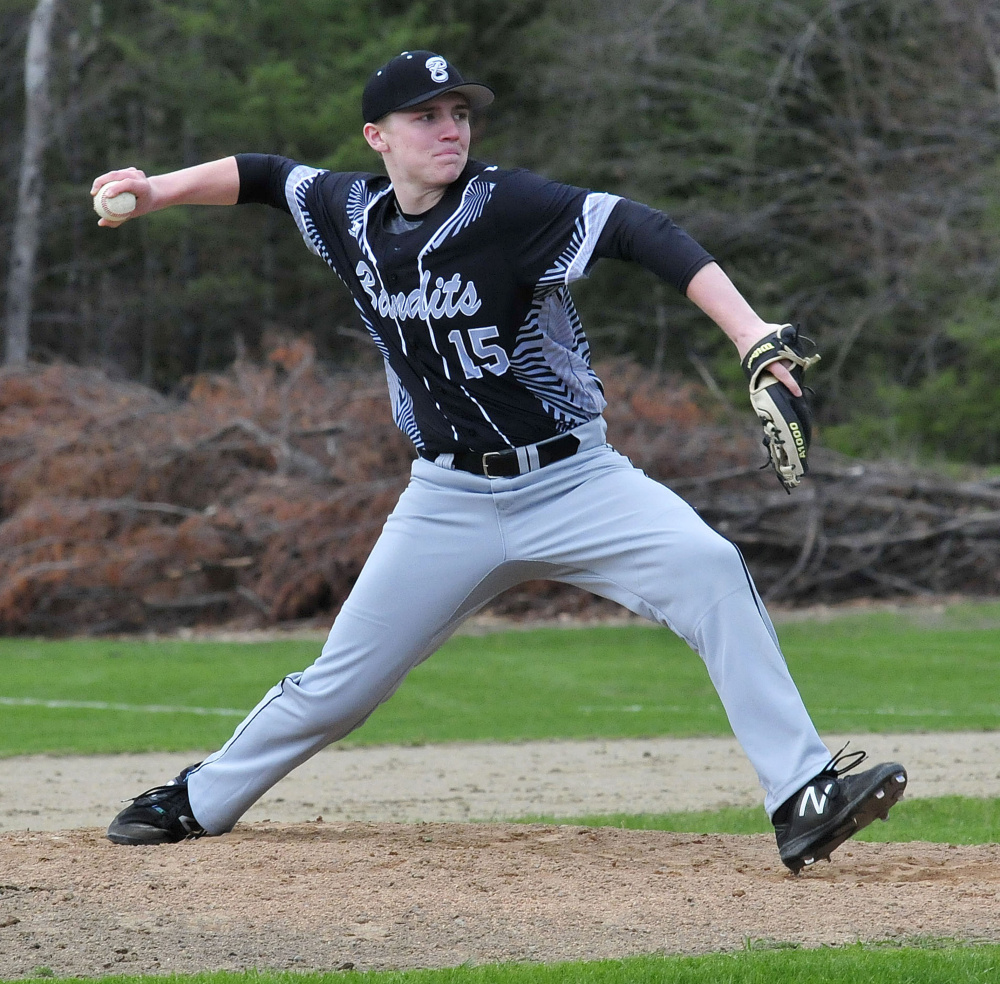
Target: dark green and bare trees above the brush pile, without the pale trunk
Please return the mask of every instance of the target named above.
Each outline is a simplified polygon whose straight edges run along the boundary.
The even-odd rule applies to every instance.
[[[88,191],[111,167],[244,150],[377,167],[360,136],[364,80],[430,47],[499,93],[479,157],[664,209],[766,318],[803,325],[824,356],[827,445],[997,456],[995,0],[2,0],[8,261],[42,6],[32,361],[169,392],[278,334],[307,336],[333,369],[372,365],[345,292],[283,216],[176,209],[109,233]],[[729,343],[644,271],[605,263],[578,303],[598,357],[743,400]]]

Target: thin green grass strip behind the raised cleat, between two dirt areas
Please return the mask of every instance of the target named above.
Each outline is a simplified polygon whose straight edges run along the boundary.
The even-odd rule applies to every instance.
[[[611,813],[580,817],[518,817],[517,823],[559,823],[626,830],[669,830],[700,834],[770,834],[760,807],[728,807],[687,813]],[[1000,800],[941,796],[907,800],[893,807],[889,823],[873,823],[855,838],[873,843],[931,841],[938,844],[1000,843]]]

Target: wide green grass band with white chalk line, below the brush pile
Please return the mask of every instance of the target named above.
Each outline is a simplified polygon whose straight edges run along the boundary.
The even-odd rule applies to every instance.
[[[820,731],[955,731],[1000,721],[998,626],[1000,606],[980,605],[792,623],[780,634]],[[0,755],[214,748],[319,649],[301,640],[3,639]],[[701,660],[667,630],[633,626],[456,637],[345,744],[729,733]]]

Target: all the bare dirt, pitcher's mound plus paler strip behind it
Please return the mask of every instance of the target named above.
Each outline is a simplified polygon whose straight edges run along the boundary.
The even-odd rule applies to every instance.
[[[910,796],[1000,795],[1000,732],[855,746]],[[769,836],[465,822],[757,802],[726,739],[329,751],[232,834],[111,845],[119,799],[185,762],[0,761],[0,979],[1000,941],[998,845],[847,844],[795,878]]]

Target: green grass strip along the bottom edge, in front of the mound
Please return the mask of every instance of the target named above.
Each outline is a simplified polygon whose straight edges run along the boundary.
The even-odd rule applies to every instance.
[[[986,984],[1000,970],[1000,946],[913,940],[909,946],[807,950],[748,940],[746,949],[704,957],[635,957],[593,963],[496,964],[407,972],[252,972],[190,977],[106,977],[88,984]],[[52,977],[48,977],[52,980]],[[79,980],[79,979],[77,979]]]

